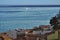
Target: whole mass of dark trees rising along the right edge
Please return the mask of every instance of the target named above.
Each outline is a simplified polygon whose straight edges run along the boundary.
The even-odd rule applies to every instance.
[[[52,19],[50,20],[50,24],[51,26],[53,26],[54,30],[58,30],[58,38],[60,37],[60,11],[59,14],[57,14],[57,16],[52,17]],[[60,39],[59,39],[60,40]]]

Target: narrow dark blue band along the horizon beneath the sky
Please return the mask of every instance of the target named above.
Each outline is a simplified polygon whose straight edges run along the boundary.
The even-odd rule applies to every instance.
[[[0,5],[0,7],[60,7],[60,5]]]

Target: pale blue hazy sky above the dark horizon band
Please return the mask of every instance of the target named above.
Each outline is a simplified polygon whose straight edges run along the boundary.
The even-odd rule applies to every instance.
[[[59,5],[60,0],[0,0],[0,5]]]

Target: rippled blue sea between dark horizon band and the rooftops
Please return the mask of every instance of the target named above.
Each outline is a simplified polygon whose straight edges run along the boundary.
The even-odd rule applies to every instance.
[[[59,9],[59,7],[0,7],[0,32],[49,25],[49,20],[59,12]]]

